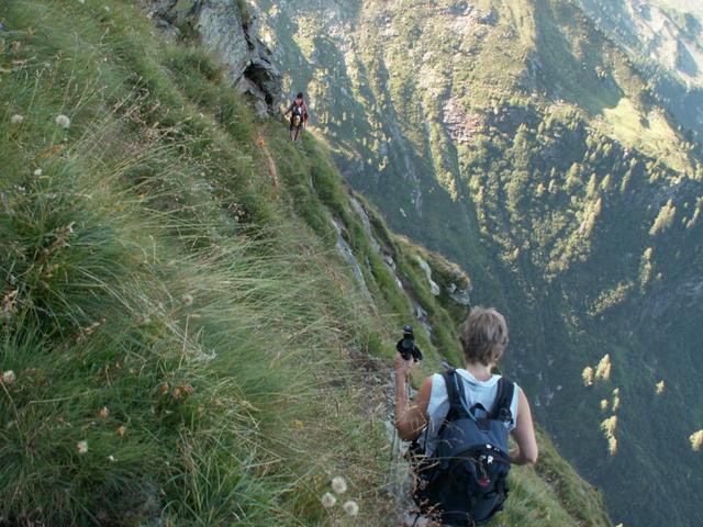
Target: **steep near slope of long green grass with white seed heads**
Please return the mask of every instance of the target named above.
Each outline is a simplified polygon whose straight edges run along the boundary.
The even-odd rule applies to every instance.
[[[0,22],[0,523],[392,525],[375,356],[422,306],[425,372],[456,361],[468,278],[132,2]],[[503,524],[610,525],[544,449]]]

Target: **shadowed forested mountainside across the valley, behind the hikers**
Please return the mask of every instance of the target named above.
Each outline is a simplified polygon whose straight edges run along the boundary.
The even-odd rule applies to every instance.
[[[509,313],[509,372],[614,519],[700,525],[698,63],[646,57],[618,2],[255,3],[347,180]],[[622,3],[695,58],[700,10]]]

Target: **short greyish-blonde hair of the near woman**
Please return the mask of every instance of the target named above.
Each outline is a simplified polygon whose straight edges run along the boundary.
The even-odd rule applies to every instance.
[[[491,366],[507,346],[507,324],[493,307],[477,306],[461,326],[461,346],[467,362]]]

